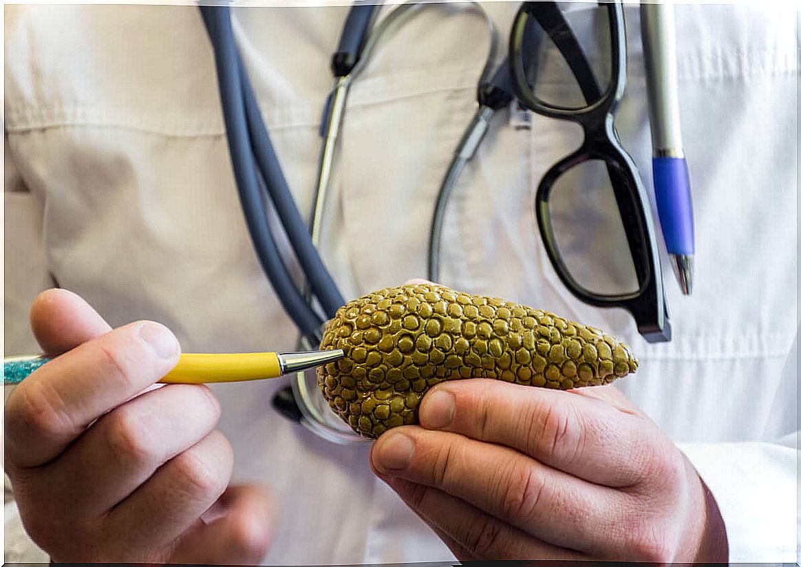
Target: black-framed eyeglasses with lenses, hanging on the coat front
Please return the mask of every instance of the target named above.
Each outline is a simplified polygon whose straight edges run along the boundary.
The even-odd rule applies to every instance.
[[[531,49],[537,56],[525,53]],[[584,132],[581,147],[537,187],[537,224],[559,279],[587,304],[626,308],[649,342],[670,340],[646,191],[614,127],[626,88],[622,6],[570,2],[562,10],[557,2],[525,2],[513,22],[509,62],[523,106]]]

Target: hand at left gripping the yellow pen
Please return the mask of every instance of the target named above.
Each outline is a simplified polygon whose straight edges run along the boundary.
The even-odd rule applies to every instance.
[[[233,456],[205,386],[151,387],[178,362],[175,336],[111,330],[70,292],[38,296],[31,324],[58,358],[6,403],[6,472],[22,523],[54,561],[256,563],[268,497],[227,488]]]

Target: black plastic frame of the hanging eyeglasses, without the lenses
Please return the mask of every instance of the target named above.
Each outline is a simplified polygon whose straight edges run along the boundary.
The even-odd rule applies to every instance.
[[[598,4],[609,12],[611,44],[610,83],[602,94],[584,51],[556,2],[524,2],[517,11],[509,34],[509,70],[513,89],[521,105],[539,115],[578,123],[584,132],[584,141],[578,150],[553,164],[540,180],[535,198],[537,225],[554,271],[574,296],[596,307],[625,308],[634,316],[638,332],[648,342],[665,342],[671,339],[672,333],[654,223],[648,213],[650,209],[646,209],[649,200],[634,159],[622,147],[614,127],[614,113],[626,89],[626,27],[623,10],[617,1]],[[529,44],[526,38],[529,18],[536,20],[562,52],[585,99],[594,102],[584,107],[569,108],[541,103],[537,99],[529,85],[529,80],[536,80],[532,79],[535,74],[525,69],[521,55],[524,46]],[[545,21],[547,19],[551,20],[550,23]],[[567,34],[557,34],[557,30],[566,30]],[[535,61],[534,58],[531,60]],[[593,97],[593,90],[598,92],[598,96]],[[591,292],[570,274],[557,247],[549,214],[553,185],[566,171],[593,159],[602,160],[610,175],[637,274],[636,292],[615,295]]]

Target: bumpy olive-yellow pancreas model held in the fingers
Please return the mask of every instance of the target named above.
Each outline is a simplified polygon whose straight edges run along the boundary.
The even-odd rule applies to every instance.
[[[344,305],[320,348],[345,357],[318,368],[328,404],[361,435],[417,423],[434,384],[496,378],[545,388],[608,384],[637,370],[621,341],[509,301],[435,284],[387,288]]]

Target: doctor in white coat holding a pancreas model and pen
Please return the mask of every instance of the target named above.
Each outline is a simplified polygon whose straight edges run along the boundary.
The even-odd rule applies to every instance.
[[[517,5],[486,7],[508,30]],[[345,13],[235,10],[305,209]],[[609,329],[641,369],[579,392],[443,384],[421,426],[340,447],[272,410],[280,381],[137,396],[181,349],[294,346],[244,226],[197,10],[8,8],[6,350],[69,352],[8,395],[21,522],[6,526],[6,560],[796,561],[795,13],[676,14],[701,252],[691,298],[666,278],[674,340],[646,344],[625,312],[562,287],[531,191],[578,140],[504,113],[454,196],[442,281]],[[618,130],[647,181],[637,6],[626,18]],[[321,246],[348,297],[425,271],[482,26],[429,10],[354,87]],[[71,292],[38,295],[52,287]]]

